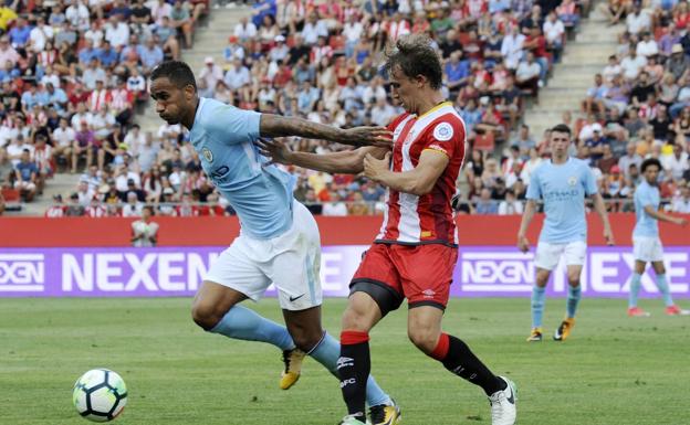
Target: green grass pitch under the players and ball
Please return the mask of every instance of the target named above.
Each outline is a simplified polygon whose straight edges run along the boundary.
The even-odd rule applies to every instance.
[[[198,329],[190,299],[0,299],[0,424],[86,424],[71,404],[92,368],[117,371],[129,400],[121,425],[331,425],[344,415],[337,381],[307,360],[278,389],[279,351]],[[548,336],[564,311],[548,299]],[[343,299],[324,326],[339,333]],[[584,299],[571,339],[526,343],[527,299],[454,299],[445,330],[519,387],[522,425],[690,424],[690,318],[626,317],[625,300]],[[274,299],[252,306],[281,320]],[[372,333],[373,372],[402,407],[404,425],[490,424],[481,390],[418,352],[406,309]],[[684,389],[684,390],[683,390]]]

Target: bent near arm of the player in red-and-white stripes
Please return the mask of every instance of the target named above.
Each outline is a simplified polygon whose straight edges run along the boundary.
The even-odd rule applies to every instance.
[[[409,171],[390,171],[390,152],[383,159],[373,155],[364,157],[364,174],[393,190],[418,196],[431,192],[438,178],[446,171],[450,159],[446,153],[426,149],[419,156],[417,167]]]

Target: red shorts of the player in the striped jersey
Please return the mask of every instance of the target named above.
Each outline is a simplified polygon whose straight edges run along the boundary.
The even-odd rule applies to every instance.
[[[458,248],[448,245],[374,244],[365,253],[352,285],[385,286],[399,296],[400,302],[407,298],[409,307],[445,309],[457,262]]]

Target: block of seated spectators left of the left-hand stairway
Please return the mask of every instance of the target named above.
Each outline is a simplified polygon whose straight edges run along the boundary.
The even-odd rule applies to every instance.
[[[148,73],[191,47],[206,9],[206,0],[3,2],[2,199],[30,202],[63,170],[117,168]]]

